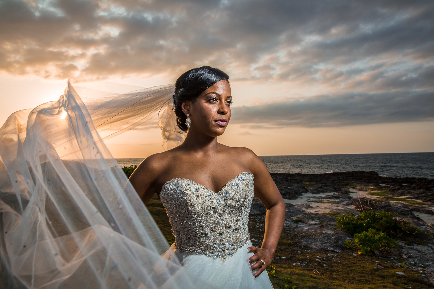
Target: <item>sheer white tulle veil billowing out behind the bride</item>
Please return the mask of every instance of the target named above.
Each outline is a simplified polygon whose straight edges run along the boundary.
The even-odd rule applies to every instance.
[[[209,288],[167,241],[103,140],[158,121],[182,142],[173,85],[69,79],[0,129],[0,288]]]

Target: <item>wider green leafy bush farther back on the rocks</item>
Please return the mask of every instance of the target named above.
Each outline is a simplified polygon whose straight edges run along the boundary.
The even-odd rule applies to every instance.
[[[369,229],[385,233],[388,237],[402,237],[404,234],[419,235],[422,232],[410,226],[406,220],[398,220],[390,212],[374,210],[365,211],[355,216],[352,212],[336,217],[336,225],[349,234],[360,234]]]

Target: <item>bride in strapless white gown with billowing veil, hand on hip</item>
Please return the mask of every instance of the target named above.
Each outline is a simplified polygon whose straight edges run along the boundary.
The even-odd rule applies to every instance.
[[[0,289],[271,288],[263,271],[284,204],[254,153],[217,143],[230,120],[227,80],[196,68],[174,94],[71,78],[58,101],[11,114],[0,128]],[[182,143],[180,130],[185,141],[129,182],[104,140],[157,114],[164,146]],[[171,248],[144,205],[155,192]],[[247,230],[253,194],[267,208],[261,248]]]

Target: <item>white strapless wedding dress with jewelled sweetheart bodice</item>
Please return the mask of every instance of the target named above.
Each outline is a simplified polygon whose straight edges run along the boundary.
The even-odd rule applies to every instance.
[[[183,269],[216,288],[273,288],[266,271],[254,278],[247,252],[253,199],[253,175],[242,172],[213,192],[189,179],[172,179],[160,199],[169,216],[175,242],[167,256],[181,260]],[[164,256],[164,255],[163,255]]]

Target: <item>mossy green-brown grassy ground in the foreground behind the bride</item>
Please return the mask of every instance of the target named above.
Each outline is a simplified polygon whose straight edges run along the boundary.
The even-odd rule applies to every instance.
[[[166,239],[171,242],[173,235],[169,219],[157,195],[151,199],[146,207]],[[264,214],[250,216],[250,236],[255,245],[259,245],[263,237],[263,219]],[[332,252],[302,247],[297,241],[297,236],[284,231],[276,250],[275,257],[279,257],[279,260],[273,261],[276,276],[270,276],[271,283],[273,283],[274,288],[297,289],[434,288],[433,285],[420,277],[421,273],[396,264],[405,260],[394,259],[391,261],[391,259],[372,256],[365,258],[364,256],[353,256],[352,253],[335,253],[335,256],[328,256],[330,253]],[[280,259],[280,257],[286,258]],[[322,261],[319,262],[316,259]],[[307,265],[297,264],[303,262],[306,262]],[[313,265],[315,263],[317,265]],[[324,263],[326,266],[323,266]],[[383,268],[375,267],[375,265]],[[405,276],[398,275],[397,271],[404,273]]]

